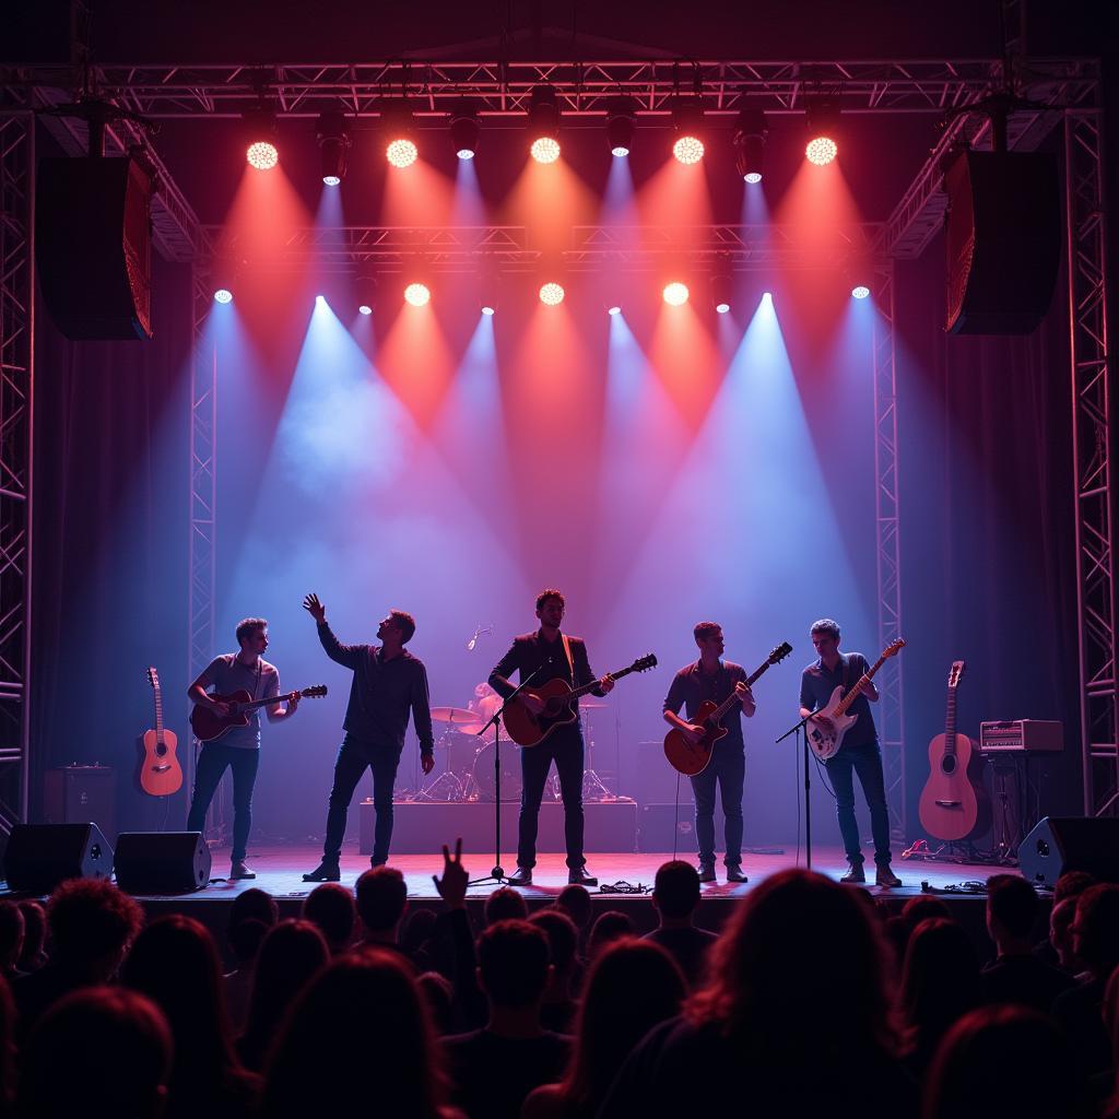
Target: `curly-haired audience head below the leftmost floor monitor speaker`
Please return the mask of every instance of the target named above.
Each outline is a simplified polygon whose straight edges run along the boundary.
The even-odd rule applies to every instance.
[[[47,927],[51,962],[103,982],[143,927],[143,910],[105,878],[70,878],[47,902]]]

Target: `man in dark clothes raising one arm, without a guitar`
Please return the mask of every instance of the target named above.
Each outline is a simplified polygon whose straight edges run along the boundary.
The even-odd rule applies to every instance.
[[[415,619],[403,610],[389,610],[377,629],[375,645],[342,645],[327,624],[327,608],[317,594],[303,600],[303,609],[314,619],[319,641],[327,656],[354,670],[349,706],[342,727],[346,736],[335,762],[335,779],[327,812],[327,837],[322,862],[303,875],[304,882],[337,882],[338,859],[346,834],[346,815],[354,790],[366,769],[373,770],[373,807],[376,825],[373,839],[374,866],[388,862],[393,837],[393,784],[404,750],[408,712],[420,739],[420,764],[424,773],[435,765],[431,733],[427,671],[423,661],[404,646],[415,633]]]

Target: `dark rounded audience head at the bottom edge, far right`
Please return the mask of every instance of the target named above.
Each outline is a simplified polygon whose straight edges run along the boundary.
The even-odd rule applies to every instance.
[[[923,1119],[1089,1119],[1083,1074],[1049,1016],[985,1006],[946,1034],[925,1078]]]

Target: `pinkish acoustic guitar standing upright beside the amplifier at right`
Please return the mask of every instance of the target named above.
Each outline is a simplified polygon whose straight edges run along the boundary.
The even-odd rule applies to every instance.
[[[948,713],[944,733],[929,743],[929,780],[921,791],[921,827],[950,841],[979,835],[990,825],[990,799],[982,787],[982,759],[975,743],[956,731],[956,690],[965,661],[953,660],[948,673]]]

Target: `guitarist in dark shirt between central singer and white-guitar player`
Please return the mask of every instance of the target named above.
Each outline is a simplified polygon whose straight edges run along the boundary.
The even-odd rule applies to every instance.
[[[726,843],[726,881],[745,882],[742,873],[742,786],[746,772],[745,742],[742,737],[742,715],[753,718],[758,705],[746,684],[746,671],[733,660],[722,660],[723,628],[717,622],[699,622],[692,631],[699,647],[699,659],[681,668],[673,678],[665,696],[665,722],[675,726],[689,742],[704,736],[704,727],[692,722],[699,707],[709,700],[716,704],[734,692],[741,703],[732,705],[723,716],[727,733],[715,743],[707,768],[692,781],[696,801],[696,838],[699,841],[699,881],[715,881],[715,787],[723,798],[724,840]],[[680,707],[688,722],[679,716]]]

